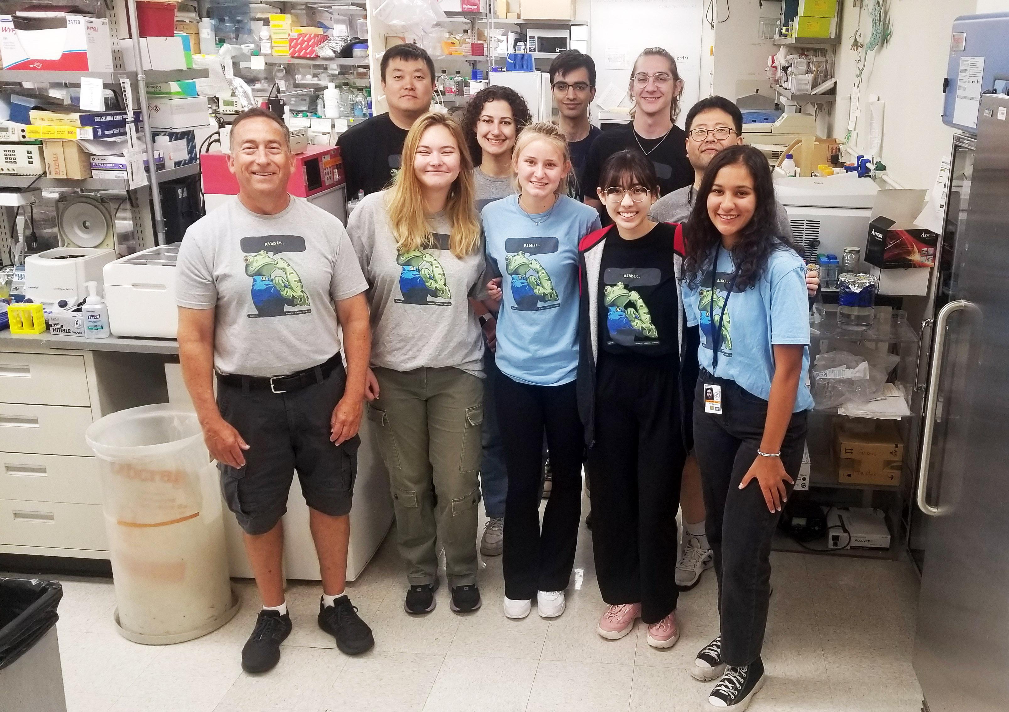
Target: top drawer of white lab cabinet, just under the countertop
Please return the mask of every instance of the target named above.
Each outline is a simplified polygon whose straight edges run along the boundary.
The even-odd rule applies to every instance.
[[[10,403],[90,405],[84,356],[0,352],[0,394]]]

